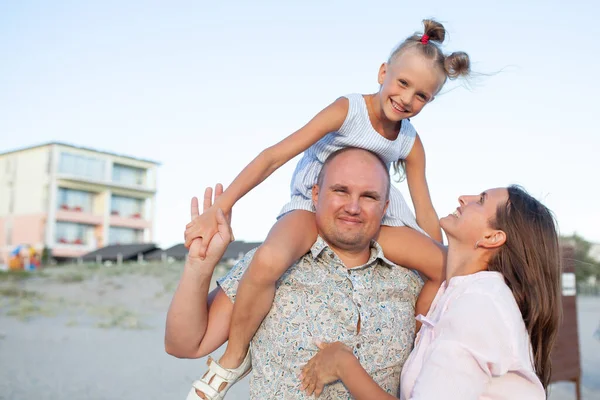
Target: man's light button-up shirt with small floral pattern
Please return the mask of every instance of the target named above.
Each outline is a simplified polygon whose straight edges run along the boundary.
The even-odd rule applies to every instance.
[[[253,254],[218,282],[232,301]],[[413,347],[422,284],[415,271],[388,261],[376,242],[366,264],[346,268],[318,238],[279,279],[271,311],[252,339],[250,398],[308,398],[300,391],[298,374],[318,351],[315,339],[350,346],[375,382],[397,396],[402,365]],[[320,398],[352,397],[338,381]]]

